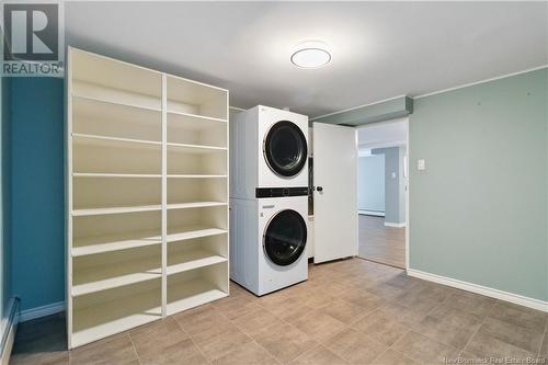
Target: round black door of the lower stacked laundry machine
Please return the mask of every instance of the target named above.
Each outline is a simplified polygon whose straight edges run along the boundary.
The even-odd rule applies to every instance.
[[[295,210],[277,213],[264,231],[264,252],[276,265],[287,266],[297,261],[305,251],[307,226]]]

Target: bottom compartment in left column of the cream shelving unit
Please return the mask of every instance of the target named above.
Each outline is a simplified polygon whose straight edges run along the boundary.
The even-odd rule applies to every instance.
[[[105,337],[162,318],[159,288],[75,309],[71,346],[80,346]]]

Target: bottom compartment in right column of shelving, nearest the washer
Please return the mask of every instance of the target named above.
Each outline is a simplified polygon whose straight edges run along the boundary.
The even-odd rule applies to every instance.
[[[168,316],[228,296],[204,280],[168,285]]]

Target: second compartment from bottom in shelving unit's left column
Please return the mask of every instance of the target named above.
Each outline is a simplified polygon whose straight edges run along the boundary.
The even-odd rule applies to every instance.
[[[162,270],[158,261],[157,258],[150,258],[110,263],[81,269],[79,274],[77,267],[73,267],[72,277],[78,277],[81,284],[72,284],[71,294],[77,297],[161,277]]]

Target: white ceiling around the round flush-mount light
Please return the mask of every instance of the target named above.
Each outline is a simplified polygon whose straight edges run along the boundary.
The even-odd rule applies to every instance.
[[[67,2],[69,45],[311,117],[548,64],[548,2]],[[295,45],[332,61],[294,67]]]

